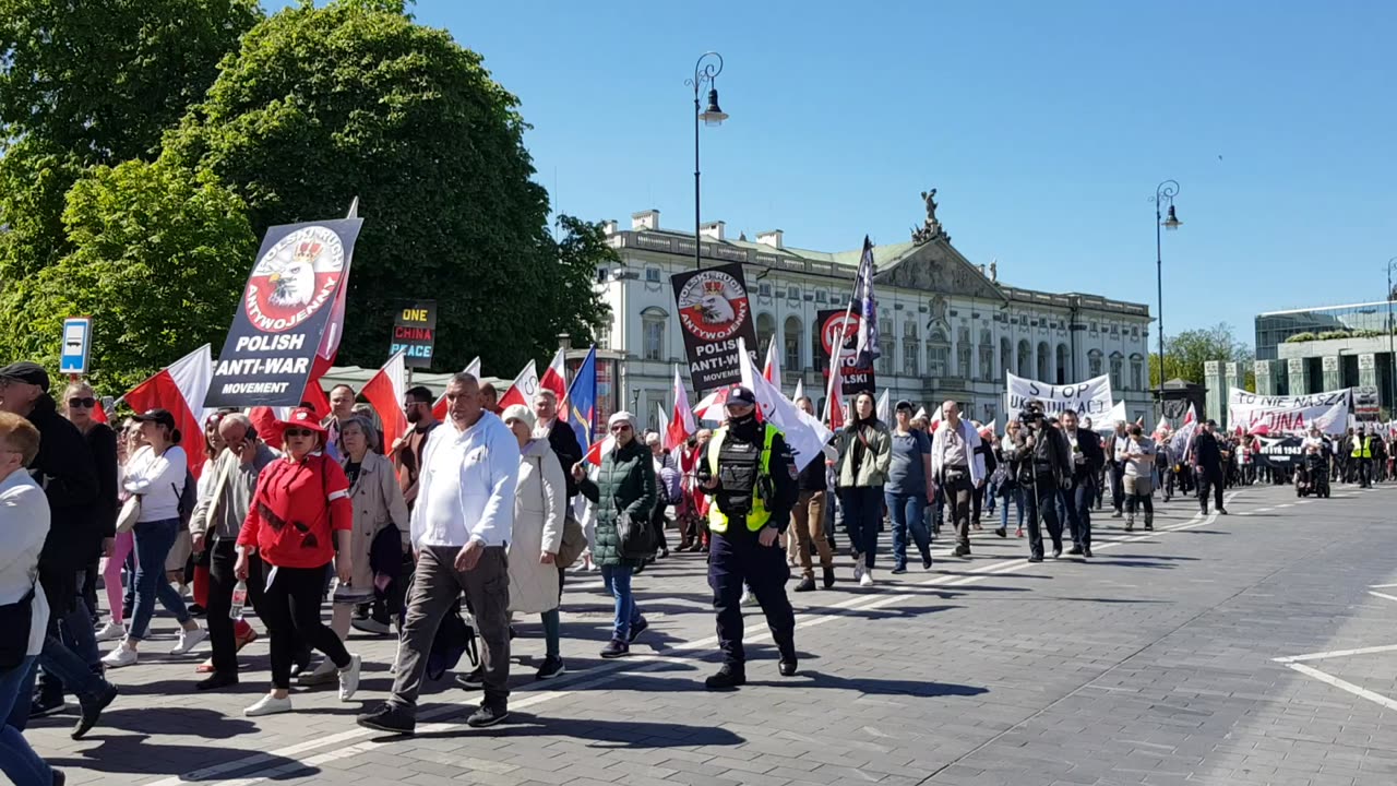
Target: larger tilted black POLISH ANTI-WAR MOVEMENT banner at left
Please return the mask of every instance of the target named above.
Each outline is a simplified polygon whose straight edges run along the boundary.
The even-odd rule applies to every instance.
[[[300,404],[362,225],[339,218],[267,229],[214,364],[205,407]]]

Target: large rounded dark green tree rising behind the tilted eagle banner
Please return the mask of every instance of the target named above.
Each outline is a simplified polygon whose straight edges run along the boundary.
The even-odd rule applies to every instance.
[[[518,99],[446,31],[401,1],[337,0],[247,32],[166,155],[237,192],[258,235],[360,197],[339,362],[383,362],[394,309],[434,298],[443,371],[476,354],[513,369],[578,310],[560,302],[576,288],[524,129]]]

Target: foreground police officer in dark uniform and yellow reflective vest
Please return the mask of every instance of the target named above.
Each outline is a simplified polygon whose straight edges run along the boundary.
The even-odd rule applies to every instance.
[[[795,674],[795,611],[787,599],[791,578],[777,540],[791,522],[796,471],[781,431],[757,422],[757,399],[740,385],[728,392],[728,422],[714,432],[697,467],[698,484],[710,494],[708,586],[718,614],[722,669],[704,685],[732,689],[747,681],[742,649],[742,586],[767,615],[781,652],[781,674]]]

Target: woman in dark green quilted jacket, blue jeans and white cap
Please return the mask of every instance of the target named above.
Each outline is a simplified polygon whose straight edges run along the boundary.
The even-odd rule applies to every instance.
[[[650,520],[650,512],[659,499],[655,490],[655,467],[650,449],[636,439],[636,418],[630,413],[616,413],[606,421],[615,448],[602,455],[602,469],[597,483],[587,480],[583,464],[573,467],[578,490],[597,496],[597,534],[592,538],[592,561],[602,568],[602,583],[616,597],[616,620],[612,641],[602,649],[602,657],[622,657],[630,643],[650,627],[636,607],[630,592],[630,578],[644,559],[622,557],[619,523],[622,516]]]

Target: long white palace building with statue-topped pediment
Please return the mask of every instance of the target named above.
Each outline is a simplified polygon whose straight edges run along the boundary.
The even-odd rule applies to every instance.
[[[935,193],[923,194],[928,218],[909,242],[875,248],[883,354],[876,366],[879,392],[890,387],[893,401],[908,399],[928,410],[957,400],[972,418],[1000,418],[1003,425],[1006,371],[1048,383],[1109,373],[1115,399],[1125,400],[1130,420],[1148,420],[1154,406],[1147,365],[1150,308],[1004,284],[996,263],[972,264],[950,243],[936,220]],[[599,357],[620,362],[610,365],[619,376],[615,389],[599,390],[601,408],[630,408],[654,428],[657,413],[673,404],[673,366],[685,362],[669,277],[694,270],[694,236],[662,228],[658,210],[634,214],[629,229],[615,221],[605,227],[622,264],[597,271],[610,305]],[[777,341],[782,390],[791,394],[796,379],[803,379],[817,411],[823,408],[816,312],[849,303],[861,250],[792,248],[780,229],[759,232],[756,242],[729,238],[722,221],[703,225],[701,241],[705,266],[743,264],[757,357]],[[687,385],[685,368],[680,375]],[[693,396],[690,390],[690,401]]]

